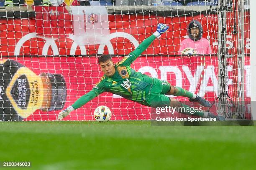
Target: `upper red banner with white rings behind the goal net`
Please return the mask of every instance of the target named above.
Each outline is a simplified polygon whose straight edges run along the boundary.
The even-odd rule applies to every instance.
[[[143,53],[147,55],[169,54],[179,51],[187,25],[191,20],[202,23],[203,37],[210,40],[213,53],[218,49],[217,15],[156,17],[154,15],[108,15],[109,35],[105,42],[80,45],[73,35],[73,19],[63,7],[44,7],[45,13],[37,13],[36,19],[0,20],[0,54],[10,55],[125,55],[150,36],[158,23],[170,26],[166,34],[152,43]],[[232,53],[234,44],[233,14],[227,14],[227,49]],[[87,20],[87,18],[85,18]],[[90,18],[95,20],[95,18]],[[143,21],[143,22],[140,22]],[[250,53],[249,15],[245,17],[245,52]]]

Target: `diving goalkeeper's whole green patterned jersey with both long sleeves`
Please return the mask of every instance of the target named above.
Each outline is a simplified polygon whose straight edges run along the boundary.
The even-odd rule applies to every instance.
[[[151,35],[146,40],[123,58],[122,61],[115,64],[115,73],[112,77],[103,76],[90,92],[80,97],[72,105],[74,109],[81,107],[102,92],[111,92],[120,95],[128,100],[139,102],[143,105],[145,99],[150,93],[154,78],[144,75],[141,72],[136,72],[131,68],[131,63],[146,50],[156,37]],[[148,105],[149,106],[149,105]]]

